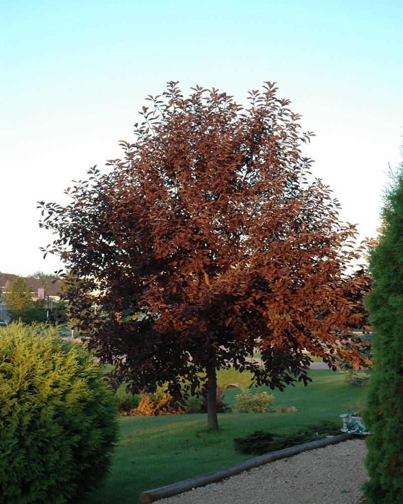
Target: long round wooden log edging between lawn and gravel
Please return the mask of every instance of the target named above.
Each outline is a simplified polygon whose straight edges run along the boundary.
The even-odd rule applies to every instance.
[[[206,486],[209,483],[229,478],[230,476],[239,474],[242,471],[248,471],[249,469],[253,469],[254,467],[258,467],[269,462],[274,462],[275,460],[292,457],[293,455],[298,455],[299,453],[307,452],[308,450],[315,450],[316,448],[336,445],[342,441],[347,441],[348,439],[353,438],[353,434],[345,433],[337,436],[326,437],[325,439],[318,439],[317,441],[312,441],[303,445],[285,448],[284,450],[277,450],[276,452],[267,453],[265,455],[261,455],[260,457],[256,457],[255,459],[245,460],[244,462],[239,462],[238,464],[225,467],[224,469],[202,474],[201,476],[195,476],[194,478],[185,479],[183,481],[179,481],[178,483],[173,483],[172,485],[161,486],[160,488],[155,488],[154,490],[147,490],[140,493],[139,499],[141,502],[154,502],[155,500],[171,497],[172,495],[177,495],[178,493],[187,492],[188,490],[192,490],[193,488],[197,488],[199,486]]]

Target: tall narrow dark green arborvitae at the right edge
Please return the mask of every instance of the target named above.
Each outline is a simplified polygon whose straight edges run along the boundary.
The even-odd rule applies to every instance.
[[[364,485],[369,504],[403,502],[403,163],[385,192],[383,225],[370,251],[374,290],[366,298],[375,365],[368,385]]]

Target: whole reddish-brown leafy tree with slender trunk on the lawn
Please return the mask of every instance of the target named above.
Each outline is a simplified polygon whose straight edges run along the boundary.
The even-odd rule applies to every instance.
[[[360,365],[350,327],[367,280],[348,273],[363,246],[311,176],[301,145],[312,133],[290,101],[270,82],[248,108],[214,88],[185,98],[177,82],[148,100],[109,173],[94,166],[65,207],[40,202],[58,235],[46,251],[83,284],[68,293],[73,318],[115,377],[174,396],[183,377],[191,392],[207,379],[214,429],[219,368],[282,389],[309,380],[305,351]]]

